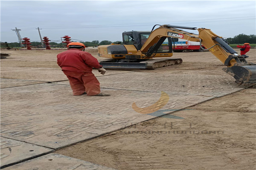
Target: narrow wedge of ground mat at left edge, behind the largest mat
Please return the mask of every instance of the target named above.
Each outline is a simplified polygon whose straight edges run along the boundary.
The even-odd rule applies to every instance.
[[[10,88],[10,87],[23,86],[23,85],[35,85],[40,83],[45,83],[45,82],[20,80],[20,79],[0,79],[1,88]]]

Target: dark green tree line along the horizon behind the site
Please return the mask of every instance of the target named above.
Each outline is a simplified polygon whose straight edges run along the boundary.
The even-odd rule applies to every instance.
[[[99,45],[110,45],[111,43],[114,44],[122,44],[121,41],[115,41],[115,42],[111,42],[108,40],[103,40],[101,42],[99,42],[98,40],[93,40],[92,42],[89,41],[80,41],[81,43],[83,43],[85,46],[87,47],[96,47]],[[245,42],[250,43],[250,44],[256,44],[256,35],[251,34],[251,35],[246,35],[246,34],[239,34],[236,35],[233,38],[227,38],[227,42],[229,42],[230,44],[243,44]],[[49,42],[51,47],[61,47],[61,48],[66,48],[66,43],[60,42]],[[18,42],[1,42],[1,47],[6,47],[6,45],[8,45],[9,47],[20,47],[20,43]],[[42,47],[41,42],[31,42],[31,45],[33,47]]]

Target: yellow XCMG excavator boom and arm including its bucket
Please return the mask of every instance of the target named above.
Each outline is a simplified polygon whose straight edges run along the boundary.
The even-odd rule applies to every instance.
[[[178,28],[198,30],[199,34],[189,33]],[[214,34],[210,29],[163,25],[151,32],[138,53],[142,53],[141,55],[144,55],[144,57],[154,57],[152,54],[160,47],[166,37],[200,42],[200,45],[204,45],[207,50],[227,66],[223,70],[232,75],[237,83],[244,85],[256,84],[256,64],[248,63],[245,59],[247,56],[238,55],[222,37]]]

